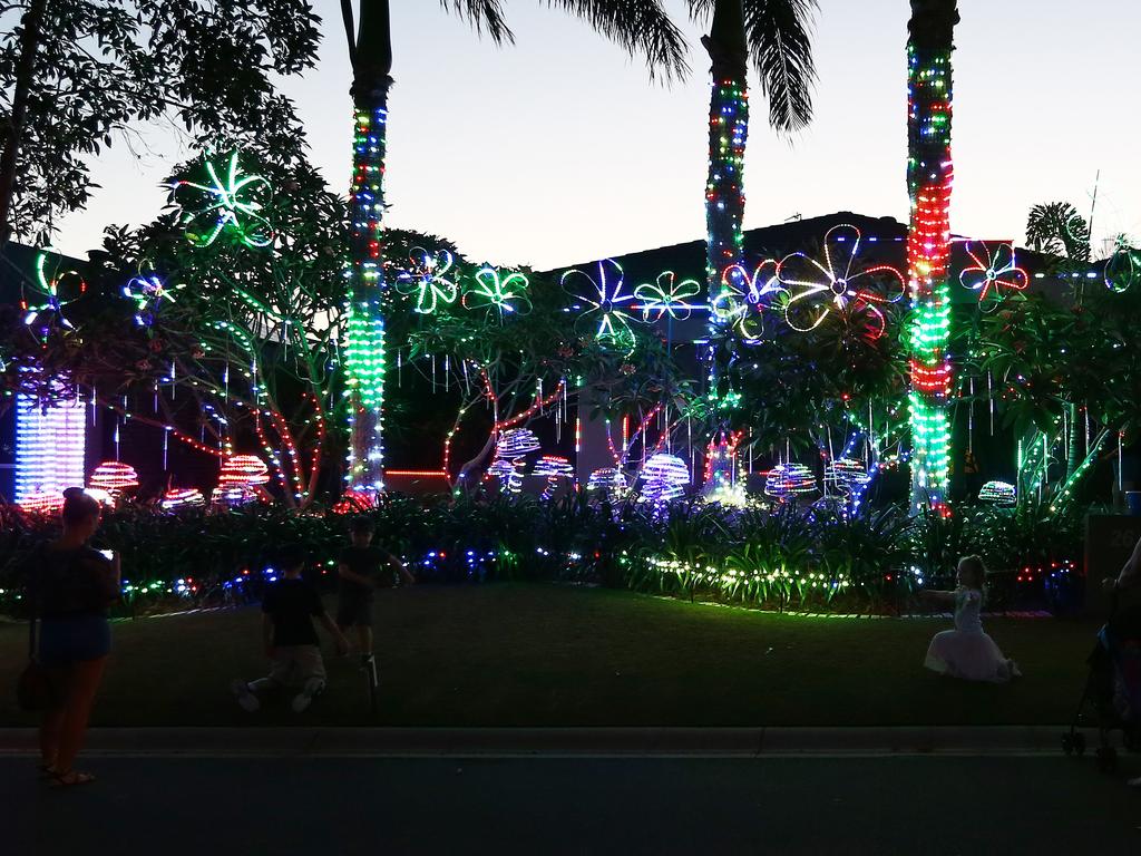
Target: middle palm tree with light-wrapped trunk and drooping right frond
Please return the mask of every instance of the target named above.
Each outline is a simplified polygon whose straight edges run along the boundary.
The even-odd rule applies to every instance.
[[[748,137],[748,60],[769,99],[769,126],[780,132],[804,128],[812,118],[812,82],[816,66],[810,38],[816,0],[689,0],[691,15],[712,11],[710,34],[702,43],[712,60],[710,96],[709,178],[705,184],[705,275],[711,306],[722,296],[727,270],[744,269],[745,193],[743,187],[745,143]],[[742,283],[730,283],[744,293]],[[738,307],[736,312],[743,310]],[[715,409],[730,403],[721,389],[728,364],[728,321],[733,312],[710,313],[709,386]],[[729,316],[729,317],[726,317]],[[712,458],[731,466],[731,441],[720,426]],[[733,444],[735,445],[735,444]],[[707,467],[706,487],[718,478],[718,467]]]

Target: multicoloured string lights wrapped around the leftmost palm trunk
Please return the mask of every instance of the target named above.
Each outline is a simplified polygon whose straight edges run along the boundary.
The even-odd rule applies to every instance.
[[[351,235],[348,324],[345,345],[349,395],[348,483],[356,490],[385,490],[385,302],[381,218],[385,210],[383,106],[356,110],[353,145]]]

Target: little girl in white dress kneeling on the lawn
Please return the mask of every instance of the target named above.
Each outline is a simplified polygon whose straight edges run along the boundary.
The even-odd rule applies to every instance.
[[[955,605],[955,629],[936,633],[924,665],[940,675],[965,680],[1005,684],[1022,673],[1013,660],[1003,656],[995,640],[982,632],[982,583],[986,568],[978,556],[958,560],[958,588],[928,591],[929,598]]]

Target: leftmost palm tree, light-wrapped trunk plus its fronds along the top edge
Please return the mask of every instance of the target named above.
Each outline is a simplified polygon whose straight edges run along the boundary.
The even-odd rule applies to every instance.
[[[629,54],[645,55],[650,75],[686,71],[685,40],[661,0],[550,0],[588,21]],[[513,40],[501,0],[440,0],[496,45]],[[385,301],[381,267],[385,210],[385,144],[388,90],[393,84],[389,0],[361,0],[354,33],[351,0],[341,0],[353,64],[356,130],[353,148],[351,249],[348,280],[348,344],[345,353],[351,407],[348,482],[361,490],[383,487]]]

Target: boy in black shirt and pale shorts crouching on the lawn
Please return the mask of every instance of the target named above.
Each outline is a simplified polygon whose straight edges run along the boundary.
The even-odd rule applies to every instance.
[[[270,687],[297,687],[293,698],[298,713],[309,706],[313,697],[325,688],[325,664],[321,660],[321,644],[313,620],[317,619],[337,640],[337,648],[347,652],[345,635],[329,617],[321,595],[301,579],[305,554],[296,547],[282,551],[282,578],[272,583],[261,599],[261,635],[269,657],[269,675],[249,684],[235,680],[232,685],[237,703],[251,713],[261,706],[257,693]]]

